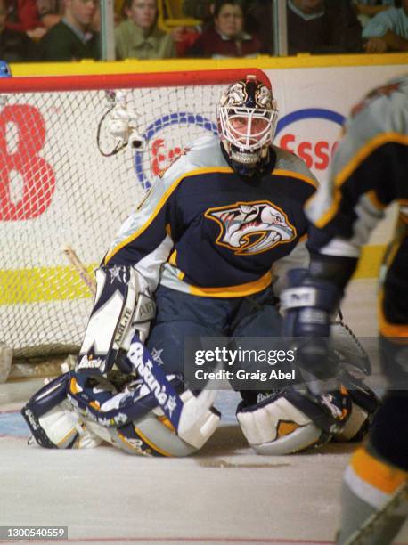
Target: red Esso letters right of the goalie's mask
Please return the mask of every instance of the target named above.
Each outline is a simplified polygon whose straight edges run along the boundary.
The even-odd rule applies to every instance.
[[[326,170],[339,142],[301,140],[296,134],[283,134],[278,143],[283,150],[291,151],[303,159],[306,167]]]

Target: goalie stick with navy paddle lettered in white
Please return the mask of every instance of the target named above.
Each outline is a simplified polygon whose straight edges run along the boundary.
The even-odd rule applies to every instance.
[[[86,266],[80,261],[75,250],[67,246],[63,252],[68,257],[69,263],[79,273],[82,281],[95,294],[94,278],[87,272]],[[165,371],[154,361],[149,350],[139,340],[137,332],[132,340],[128,357],[144,385],[155,396],[160,409],[177,430],[177,435],[187,443],[200,448],[201,445],[194,444],[196,439],[194,425],[206,414],[216,398],[216,391],[208,389],[211,381],[208,381],[207,388],[201,390],[199,395],[192,395],[184,401],[175,392]]]

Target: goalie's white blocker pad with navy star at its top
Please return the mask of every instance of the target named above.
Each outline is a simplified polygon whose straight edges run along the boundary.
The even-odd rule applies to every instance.
[[[118,351],[129,349],[135,331],[147,337],[156,306],[146,282],[133,267],[102,266],[96,271],[94,309],[78,355],[76,370],[88,375],[105,375]],[[129,372],[129,369],[123,369]]]

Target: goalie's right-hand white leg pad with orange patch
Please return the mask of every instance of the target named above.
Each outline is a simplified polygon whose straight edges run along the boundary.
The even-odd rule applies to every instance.
[[[330,441],[331,435],[290,402],[286,391],[254,405],[237,408],[243,435],[257,454],[279,456]]]

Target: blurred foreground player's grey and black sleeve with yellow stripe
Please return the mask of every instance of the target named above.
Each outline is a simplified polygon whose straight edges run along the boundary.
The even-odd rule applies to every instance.
[[[358,257],[384,216],[406,199],[408,186],[408,77],[384,85],[358,104],[322,184],[306,205],[312,222],[308,248]]]

